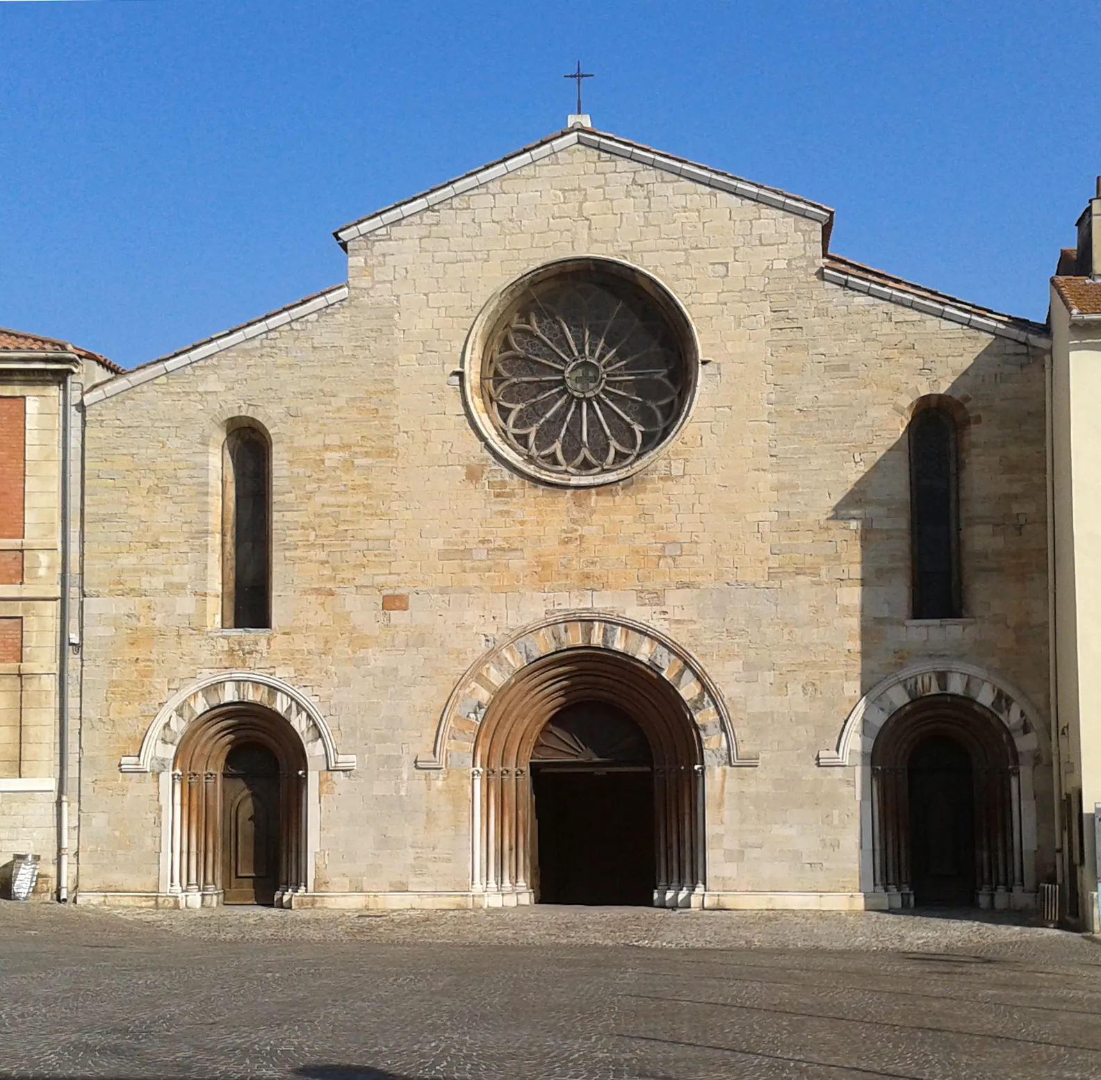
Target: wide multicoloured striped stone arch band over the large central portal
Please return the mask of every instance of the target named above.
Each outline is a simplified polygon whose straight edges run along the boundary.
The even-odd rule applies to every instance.
[[[706,764],[759,763],[757,757],[739,751],[718,687],[687,650],[642,622],[573,611],[526,627],[467,670],[440,715],[433,752],[418,757],[417,768],[471,768],[478,727],[498,690],[534,661],[568,649],[607,649],[657,672],[688,708],[699,731]]]

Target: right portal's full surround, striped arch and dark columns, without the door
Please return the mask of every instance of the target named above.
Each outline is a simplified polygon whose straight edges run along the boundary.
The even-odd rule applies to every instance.
[[[869,907],[913,902],[909,773],[923,741],[949,739],[970,761],[968,825],[981,906],[1028,907],[1036,891],[1034,769],[1049,760],[1038,712],[972,664],[927,661],[884,679],[846,718],[818,764],[852,768],[860,800],[860,883]]]

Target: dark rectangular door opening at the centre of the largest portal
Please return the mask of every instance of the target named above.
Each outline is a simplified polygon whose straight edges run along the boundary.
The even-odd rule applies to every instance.
[[[548,904],[654,902],[654,781],[636,771],[533,770],[538,899]]]

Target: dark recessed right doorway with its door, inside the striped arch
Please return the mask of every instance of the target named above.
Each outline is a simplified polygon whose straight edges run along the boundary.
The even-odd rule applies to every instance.
[[[875,888],[901,906],[1009,907],[1023,889],[1020,769],[994,716],[941,694],[898,709],[872,748]]]

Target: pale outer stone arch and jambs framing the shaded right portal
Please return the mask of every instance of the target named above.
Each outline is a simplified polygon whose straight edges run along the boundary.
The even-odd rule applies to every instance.
[[[955,703],[971,716],[983,717],[1003,730],[1011,758],[1004,763],[1014,771],[1013,845],[1020,862],[1021,883],[1013,906],[1028,906],[1036,890],[1035,853],[1037,848],[1036,798],[1033,774],[1036,765],[1049,760],[1048,739],[1035,706],[1011,683],[973,664],[931,660],[915,664],[873,686],[846,717],[832,750],[818,753],[822,767],[852,767],[855,770],[860,800],[860,882],[865,895],[886,894],[887,905],[901,906],[903,899],[884,885],[876,860],[883,857],[883,838],[877,831],[876,785],[873,783],[873,754],[881,730],[898,714],[925,715],[914,706],[934,708]],[[992,738],[992,737],[991,737]],[[881,751],[882,752],[882,751]],[[973,754],[972,754],[973,757]],[[989,760],[989,759],[988,759]],[[877,885],[879,881],[879,885]],[[1012,888],[1017,888],[1016,883]]]

